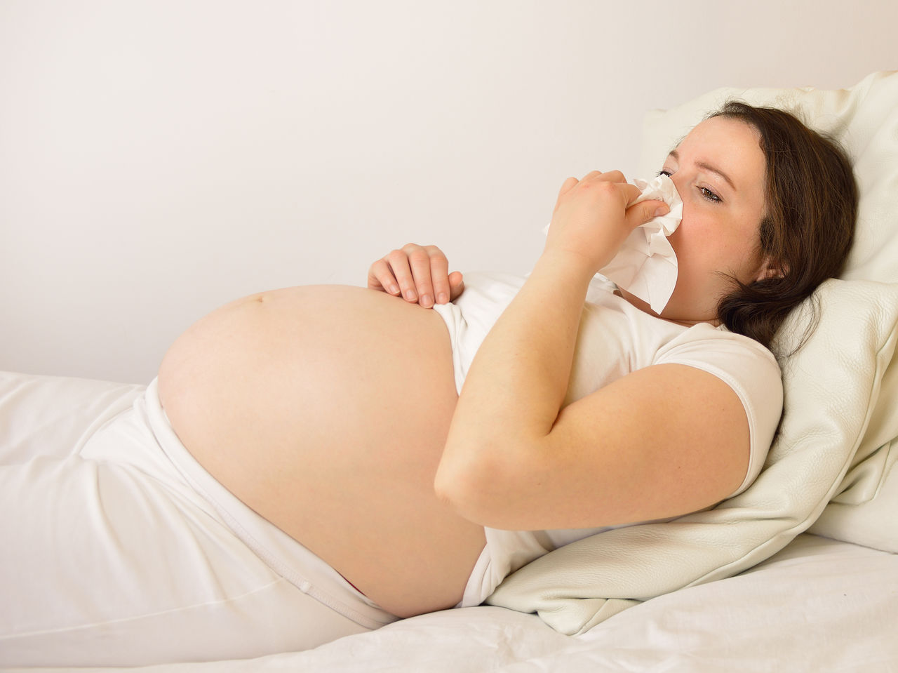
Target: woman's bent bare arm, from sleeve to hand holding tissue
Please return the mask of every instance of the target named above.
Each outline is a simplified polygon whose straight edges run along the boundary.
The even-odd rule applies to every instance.
[[[637,196],[620,173],[562,186],[546,249],[480,347],[453,416],[435,486],[462,516],[597,527],[685,514],[741,483],[745,413],[706,372],[648,367],[561,408],[589,280],[663,206],[628,208]]]

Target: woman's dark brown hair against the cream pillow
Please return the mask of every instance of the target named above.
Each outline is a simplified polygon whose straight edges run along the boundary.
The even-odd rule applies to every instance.
[[[741,283],[718,304],[731,332],[770,348],[793,308],[811,297],[823,280],[837,276],[854,239],[858,187],[848,156],[829,137],[774,108],[727,102],[710,117],[740,120],[761,135],[767,164],[760,253],[776,276]],[[812,306],[816,322],[816,306]]]

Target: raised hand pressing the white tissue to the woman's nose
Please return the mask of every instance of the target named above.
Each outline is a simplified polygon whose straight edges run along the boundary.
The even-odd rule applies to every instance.
[[[559,190],[546,252],[572,253],[594,275],[612,261],[630,232],[669,210],[660,200],[634,204],[639,195],[620,171],[568,178]]]

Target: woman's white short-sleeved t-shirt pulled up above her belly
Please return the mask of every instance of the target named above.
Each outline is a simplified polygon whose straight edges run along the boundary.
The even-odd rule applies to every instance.
[[[455,385],[462,390],[471,360],[487,332],[524,285],[524,278],[501,273],[469,273],[453,304],[436,306],[453,346]],[[779,365],[757,341],[723,327],[701,323],[683,327],[640,311],[595,279],[586,295],[577,350],[565,403],[643,367],[677,363],[718,376],[742,401],[748,419],[751,455],[744,491],[761,472],[782,412]],[[633,525],[633,524],[629,524]],[[487,545],[471,573],[459,607],[479,605],[508,574],[559,546],[608,530],[509,531],[486,528]]]

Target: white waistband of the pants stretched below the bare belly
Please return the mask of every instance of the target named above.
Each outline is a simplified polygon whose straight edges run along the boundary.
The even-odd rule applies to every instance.
[[[311,550],[250,509],[199,465],[172,429],[159,402],[155,379],[146,388],[145,403],[150,429],[163,453],[190,486],[212,505],[233,534],[273,571],[365,628],[378,628],[399,619],[377,606]]]

